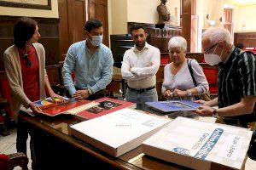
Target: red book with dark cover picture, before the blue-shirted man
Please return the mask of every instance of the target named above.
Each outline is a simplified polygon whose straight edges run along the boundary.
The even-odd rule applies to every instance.
[[[76,118],[84,121],[87,119],[96,118],[98,116],[103,116],[126,107],[132,107],[133,105],[135,104],[125,100],[104,97],[101,99],[96,99],[90,102],[88,105],[84,105],[84,110],[77,111],[77,113],[73,115]]]

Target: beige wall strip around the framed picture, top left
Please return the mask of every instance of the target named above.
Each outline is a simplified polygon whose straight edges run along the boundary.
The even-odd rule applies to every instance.
[[[51,10],[32,8],[10,8],[0,6],[0,15],[59,18],[58,1],[51,1]]]

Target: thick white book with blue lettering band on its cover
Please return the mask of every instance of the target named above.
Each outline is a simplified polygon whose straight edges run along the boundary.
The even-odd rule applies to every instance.
[[[211,164],[241,169],[252,131],[211,122],[177,117],[145,140],[143,153],[193,169]]]

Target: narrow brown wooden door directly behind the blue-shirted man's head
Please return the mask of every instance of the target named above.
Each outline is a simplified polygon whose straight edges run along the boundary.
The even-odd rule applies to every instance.
[[[89,18],[102,20],[103,43],[108,46],[108,0],[88,0]]]

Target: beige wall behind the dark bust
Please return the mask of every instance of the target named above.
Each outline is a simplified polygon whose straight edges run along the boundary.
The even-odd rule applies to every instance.
[[[166,6],[170,13],[176,17],[172,25],[179,26],[180,0],[168,0]],[[158,21],[156,11],[160,0],[108,0],[108,22],[110,34],[127,33],[127,22],[141,22],[155,24]],[[177,16],[175,16],[177,8]]]

